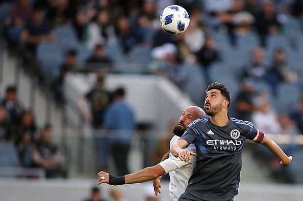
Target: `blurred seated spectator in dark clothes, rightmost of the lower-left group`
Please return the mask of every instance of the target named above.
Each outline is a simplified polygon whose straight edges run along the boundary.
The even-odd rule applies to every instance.
[[[33,162],[35,166],[45,169],[46,178],[58,176],[66,178],[63,156],[52,140],[52,128],[49,125],[45,125],[41,131],[41,136],[33,151]]]

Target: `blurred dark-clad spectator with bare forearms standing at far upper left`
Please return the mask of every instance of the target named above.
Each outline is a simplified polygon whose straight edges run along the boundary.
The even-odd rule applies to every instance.
[[[24,62],[31,62],[36,56],[37,46],[42,42],[53,40],[54,37],[52,28],[44,20],[43,10],[35,8],[31,19],[21,33],[21,41],[25,43],[26,48],[26,52],[22,52],[24,54]]]

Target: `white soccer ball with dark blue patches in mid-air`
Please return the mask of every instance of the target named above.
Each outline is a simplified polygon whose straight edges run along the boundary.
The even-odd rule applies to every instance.
[[[160,25],[164,32],[170,35],[178,35],[187,29],[189,15],[187,11],[178,5],[166,7],[160,15]]]

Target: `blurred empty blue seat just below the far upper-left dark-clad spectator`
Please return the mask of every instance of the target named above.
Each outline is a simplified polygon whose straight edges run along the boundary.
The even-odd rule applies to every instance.
[[[41,71],[50,81],[56,78],[60,72],[60,64],[63,62],[63,52],[54,42],[39,44],[37,48],[37,60],[41,64]],[[50,76],[49,76],[50,75]]]

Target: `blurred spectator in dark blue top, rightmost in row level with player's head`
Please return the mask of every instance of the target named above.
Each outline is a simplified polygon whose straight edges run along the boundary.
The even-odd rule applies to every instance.
[[[283,49],[274,51],[271,68],[268,69],[266,79],[268,79],[273,95],[277,95],[277,88],[282,82],[295,82],[298,76],[291,71],[286,63],[286,54]]]

